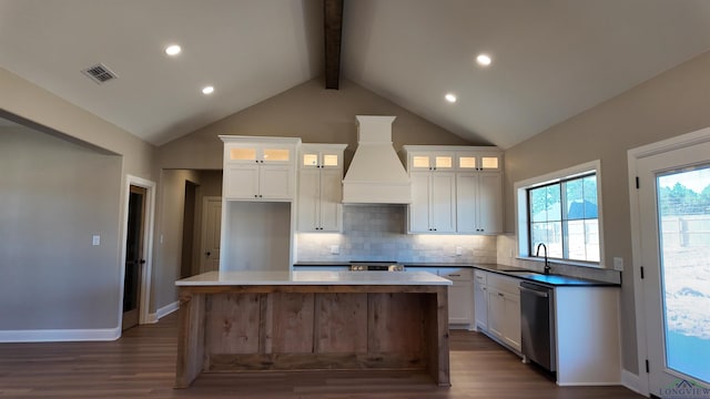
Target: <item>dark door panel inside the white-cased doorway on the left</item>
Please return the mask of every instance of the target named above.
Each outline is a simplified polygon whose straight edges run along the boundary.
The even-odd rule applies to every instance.
[[[125,275],[123,277],[123,320],[121,324],[123,330],[134,327],[139,323],[141,268],[145,264],[143,237],[146,194],[146,188],[131,185],[125,239]]]

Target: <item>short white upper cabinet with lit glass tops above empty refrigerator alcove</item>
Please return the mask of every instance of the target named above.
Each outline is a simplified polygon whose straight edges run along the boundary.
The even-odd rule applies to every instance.
[[[225,200],[294,200],[296,149],[301,139],[220,137],[224,141]]]

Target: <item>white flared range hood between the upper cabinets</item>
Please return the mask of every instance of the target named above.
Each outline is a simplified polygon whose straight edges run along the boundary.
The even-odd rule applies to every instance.
[[[343,180],[343,204],[409,204],[412,183],[392,145],[396,116],[357,115],[357,149]]]

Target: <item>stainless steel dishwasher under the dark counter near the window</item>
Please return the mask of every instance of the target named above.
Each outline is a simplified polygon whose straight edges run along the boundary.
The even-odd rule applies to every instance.
[[[555,289],[520,283],[520,339],[523,361],[534,361],[549,371],[557,370],[555,356]]]

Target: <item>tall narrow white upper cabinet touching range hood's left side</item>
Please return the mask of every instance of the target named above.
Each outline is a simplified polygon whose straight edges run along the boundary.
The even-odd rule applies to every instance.
[[[346,144],[303,144],[298,155],[298,231],[343,229],[343,153]]]

